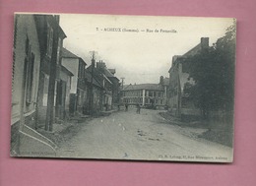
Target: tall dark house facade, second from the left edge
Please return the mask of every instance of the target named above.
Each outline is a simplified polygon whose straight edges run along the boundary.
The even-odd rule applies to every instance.
[[[52,130],[55,122],[57,87],[60,84],[60,49],[66,37],[59,16],[35,15],[40,44],[40,72],[37,96],[37,127]],[[57,111],[58,112],[58,111]]]

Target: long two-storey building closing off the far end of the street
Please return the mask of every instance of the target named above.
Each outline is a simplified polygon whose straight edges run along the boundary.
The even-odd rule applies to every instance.
[[[121,99],[124,104],[141,104],[145,107],[164,108],[167,93],[167,81],[160,77],[160,84],[138,84],[124,86]]]

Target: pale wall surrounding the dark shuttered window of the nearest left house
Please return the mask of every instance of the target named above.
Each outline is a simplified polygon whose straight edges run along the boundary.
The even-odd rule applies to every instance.
[[[12,97],[12,124],[16,123],[20,117],[21,103],[25,100],[22,96],[23,80],[24,80],[24,65],[26,57],[26,39],[27,36],[30,40],[31,50],[34,54],[34,63],[32,71],[32,103],[24,106],[24,113],[30,113],[35,110],[38,79],[40,68],[40,50],[35,23],[32,16],[22,15],[17,17],[17,30],[16,30],[16,47],[14,47],[14,75],[13,75],[13,97]]]

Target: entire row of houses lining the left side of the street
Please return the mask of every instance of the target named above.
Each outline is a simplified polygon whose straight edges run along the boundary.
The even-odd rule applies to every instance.
[[[14,21],[11,152],[25,155],[32,147],[51,152],[54,144],[36,131],[112,109],[120,100],[119,80],[103,61],[93,57],[87,67],[63,47],[67,35],[59,16],[21,14]]]

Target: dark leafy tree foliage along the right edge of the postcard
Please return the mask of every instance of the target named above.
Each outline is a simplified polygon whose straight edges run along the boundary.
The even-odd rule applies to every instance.
[[[205,116],[211,110],[233,110],[235,25],[208,49],[188,57],[190,78],[195,85],[186,89]]]

